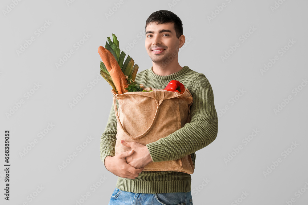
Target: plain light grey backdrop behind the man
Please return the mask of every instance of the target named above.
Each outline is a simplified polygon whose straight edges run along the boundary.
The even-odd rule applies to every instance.
[[[1,164],[5,130],[10,130],[11,164],[10,201],[3,195],[1,200],[5,204],[76,204],[90,192],[82,204],[108,204],[117,176],[101,162],[99,143],[112,104],[111,86],[103,79],[92,88],[87,86],[99,76],[97,49],[114,33],[120,49],[130,49],[126,54],[139,65],[138,72],[151,68],[152,60],[144,47],[145,21],[156,10],[170,10],[181,18],[186,37],[179,63],[205,74],[213,88],[217,113],[221,112],[216,140],[196,152],[193,203],[236,204],[246,192],[249,195],[239,199],[240,204],[284,205],[292,198],[296,200],[292,204],[307,204],[308,86],[300,86],[308,76],[308,2],[276,1],[283,3],[274,11],[274,0],[119,2],[33,0],[18,2],[11,10],[12,1],[1,2]],[[223,3],[225,7],[218,12],[217,6]],[[120,7],[115,9],[115,4]],[[105,14],[113,7],[116,11],[107,18]],[[10,12],[4,14],[3,10]],[[209,21],[215,10],[217,16]],[[35,35],[45,21],[51,24]],[[239,38],[250,27],[256,30],[241,42]],[[76,50],[74,44],[84,34],[90,37]],[[16,50],[31,36],[35,41],[18,55]],[[281,56],[278,50],[287,46],[289,39],[295,43]],[[134,40],[137,43],[128,47]],[[240,47],[223,62],[221,56],[237,42]],[[57,69],[55,63],[71,49],[74,54]],[[279,59],[262,75],[260,69],[275,55]],[[41,87],[27,99],[24,94],[35,83]],[[300,92],[292,92],[298,86]],[[87,94],[71,108],[69,103],[84,89]],[[245,93],[238,98],[240,89]],[[289,95],[292,100],[283,104]],[[231,104],[234,97],[237,101]],[[20,108],[7,117],[22,99]],[[285,106],[275,113],[278,104]],[[223,113],[226,105],[229,109]],[[55,126],[40,139],[37,134],[48,123]],[[242,140],[253,129],[259,133],[244,144]],[[87,136],[93,138],[89,143]],[[21,157],[35,139],[38,143]],[[298,144],[295,149],[290,148],[292,142]],[[82,143],[87,146],[79,152]],[[240,145],[243,149],[225,163]],[[281,153],[288,148],[290,153],[284,158]],[[60,171],[58,166],[73,152],[77,156]],[[282,162],[264,175],[278,158]],[[4,188],[3,169],[0,182]],[[99,186],[94,191],[95,183]],[[30,201],[28,197],[37,186],[44,189]],[[306,192],[298,198],[296,192],[301,189]]]

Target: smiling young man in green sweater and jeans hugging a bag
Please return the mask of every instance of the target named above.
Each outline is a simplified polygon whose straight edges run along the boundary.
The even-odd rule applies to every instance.
[[[191,121],[164,140],[147,145],[123,141],[123,146],[132,149],[115,156],[117,121],[114,107],[111,106],[100,142],[102,162],[108,171],[118,176],[109,205],[192,205],[190,174],[142,170],[150,162],[176,160],[187,153],[195,166],[195,152],[217,137],[218,119],[213,90],[204,74],[188,66],[182,67],[178,62],[178,51],[185,43],[185,36],[182,21],[176,14],[167,10],[156,11],[147,19],[145,28],[145,48],[152,59],[152,67],[137,73],[135,81],[144,84],[144,87],[157,89],[164,89],[171,80],[180,81],[193,96]]]

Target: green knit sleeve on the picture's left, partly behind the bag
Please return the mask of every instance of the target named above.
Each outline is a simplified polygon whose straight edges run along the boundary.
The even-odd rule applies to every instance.
[[[119,106],[118,101],[116,100],[117,107]],[[115,111],[113,103],[111,105],[111,110],[108,118],[106,128],[100,138],[100,159],[105,165],[105,158],[107,156],[115,156],[115,142],[117,134],[117,120],[115,118]],[[106,165],[105,165],[106,167]]]

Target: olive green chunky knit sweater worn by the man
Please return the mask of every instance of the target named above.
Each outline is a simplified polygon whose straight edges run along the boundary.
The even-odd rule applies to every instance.
[[[153,162],[176,160],[190,154],[195,166],[195,152],[208,146],[217,136],[218,119],[213,90],[204,74],[195,72],[188,66],[168,76],[155,74],[151,67],[137,73],[135,79],[136,82],[144,84],[145,88],[156,89],[164,89],[171,80],[180,81],[193,96],[190,107],[191,121],[167,137],[146,146]],[[118,101],[116,104],[118,107]],[[116,133],[117,120],[112,105],[106,129],[100,140],[100,158],[103,163],[107,156],[115,156]],[[148,194],[189,192],[191,175],[177,171],[142,171],[135,179],[118,177],[116,187],[123,191]]]

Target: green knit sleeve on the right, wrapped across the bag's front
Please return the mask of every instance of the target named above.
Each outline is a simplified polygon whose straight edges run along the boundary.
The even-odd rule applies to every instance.
[[[176,160],[208,146],[218,132],[218,117],[212,87],[204,74],[199,73],[188,85],[193,96],[191,121],[167,137],[146,146],[153,162]]]

